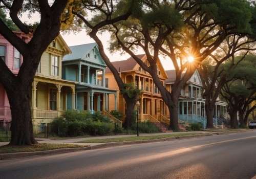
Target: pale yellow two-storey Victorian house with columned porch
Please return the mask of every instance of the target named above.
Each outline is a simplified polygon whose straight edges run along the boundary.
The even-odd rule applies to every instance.
[[[75,108],[75,83],[61,79],[61,61],[71,50],[58,35],[41,57],[32,85],[34,125],[47,125],[64,110]]]

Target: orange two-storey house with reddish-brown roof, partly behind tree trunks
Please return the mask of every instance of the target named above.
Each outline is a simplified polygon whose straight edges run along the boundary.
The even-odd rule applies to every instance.
[[[150,63],[147,61],[146,55],[138,55],[138,57],[146,64],[150,65]],[[142,90],[142,94],[139,96],[139,102],[140,102],[140,110],[139,110],[139,121],[152,121],[157,122],[158,119],[160,119],[161,115],[164,113],[164,102],[160,95],[160,91],[157,88],[157,86],[154,84],[153,79],[151,75],[147,72],[145,72],[140,65],[131,57],[126,60],[122,61],[114,61],[112,64],[115,66],[115,68],[119,71],[119,74],[123,80],[124,83],[134,83],[134,85]],[[157,62],[158,66],[158,77],[164,84],[164,81],[168,78],[163,66],[158,60]],[[106,81],[106,87],[109,87],[111,89],[117,89],[118,85],[116,83],[116,80],[110,71],[110,69],[106,69],[105,71],[105,81]],[[109,98],[109,110],[114,110],[114,101],[115,99],[113,97]],[[118,91],[117,94],[117,110],[121,111],[124,115],[126,104],[125,100],[120,94],[120,91]]]

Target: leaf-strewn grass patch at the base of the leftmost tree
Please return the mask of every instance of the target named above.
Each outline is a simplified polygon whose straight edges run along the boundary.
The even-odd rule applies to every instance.
[[[16,153],[16,152],[35,152],[35,151],[45,151],[54,150],[59,148],[77,148],[77,147],[87,147],[75,144],[46,144],[37,143],[33,145],[4,145],[0,147],[0,153]]]

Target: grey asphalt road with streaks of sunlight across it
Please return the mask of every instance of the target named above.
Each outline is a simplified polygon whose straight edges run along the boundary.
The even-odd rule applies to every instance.
[[[0,161],[0,178],[251,178],[256,130]]]

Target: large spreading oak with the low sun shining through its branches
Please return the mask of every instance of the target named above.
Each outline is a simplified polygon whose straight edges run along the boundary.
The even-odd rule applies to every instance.
[[[89,9],[93,18],[84,17],[79,10],[75,13],[89,27],[89,35],[99,44],[101,56],[107,59],[105,62],[113,70],[117,83],[119,74],[103,53],[103,45],[97,36],[98,32],[104,30],[112,34],[113,51],[123,50],[130,54],[151,74],[169,109],[173,130],[179,129],[177,109],[180,91],[199,64],[214,53],[227,36],[250,32],[251,14],[247,1],[144,0],[137,1],[133,9],[127,6],[127,2],[132,1],[118,1],[123,6],[116,8],[116,11],[113,11],[113,7],[117,7],[113,1],[93,2],[95,4],[90,4],[92,1],[82,2],[83,9]],[[106,3],[111,4],[106,6]],[[144,51],[150,66],[136,56],[138,49]],[[176,70],[175,87],[171,92],[158,78],[156,64],[161,54],[170,60]],[[195,58],[193,63],[186,60],[190,55]]]

